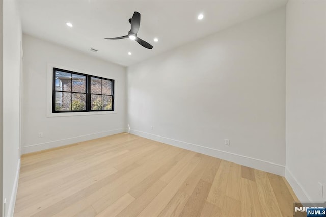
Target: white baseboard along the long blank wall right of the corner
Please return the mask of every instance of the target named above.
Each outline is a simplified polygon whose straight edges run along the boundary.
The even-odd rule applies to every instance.
[[[244,165],[247,167],[252,167],[252,168],[255,168],[258,170],[263,170],[263,171],[266,171],[269,173],[284,176],[285,166],[275,164],[273,162],[268,162],[265,160],[260,160],[260,159],[256,159],[256,158],[252,158],[252,157],[248,157],[248,156],[234,154],[234,153],[230,153],[230,152],[222,151],[222,150],[218,150],[218,149],[208,148],[208,147],[204,147],[201,145],[187,143],[187,142],[183,142],[183,141],[179,141],[179,140],[175,140],[175,139],[161,137],[160,135],[154,135],[151,133],[142,132],[142,131],[138,131],[138,130],[130,130],[129,133],[139,135],[140,137],[155,140],[158,142],[166,143],[169,145],[177,146],[179,148],[183,148],[183,149],[195,151],[198,153],[206,154],[206,155],[209,155],[212,157],[217,157],[220,159],[235,162],[236,164],[240,164],[240,165]]]

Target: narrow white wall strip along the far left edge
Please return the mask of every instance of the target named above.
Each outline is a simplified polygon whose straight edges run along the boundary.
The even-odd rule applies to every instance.
[[[4,215],[11,216],[19,172],[21,24],[15,0],[3,1],[3,198]]]

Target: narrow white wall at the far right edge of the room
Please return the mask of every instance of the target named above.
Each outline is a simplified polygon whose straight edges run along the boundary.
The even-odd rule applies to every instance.
[[[286,178],[301,201],[325,201],[326,2],[286,6]],[[324,191],[324,195],[325,195]],[[326,195],[325,195],[326,196]]]

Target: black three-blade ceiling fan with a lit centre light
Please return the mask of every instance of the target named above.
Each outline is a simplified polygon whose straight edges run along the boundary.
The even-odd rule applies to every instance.
[[[135,40],[137,41],[140,45],[142,45],[143,47],[147,48],[147,49],[152,49],[153,46],[150,45],[148,42],[140,39],[137,37],[137,33],[139,30],[139,26],[141,23],[141,14],[138,13],[137,11],[135,11],[132,15],[132,18],[129,19],[129,23],[131,24],[131,29],[128,32],[128,35],[125,36],[120,36],[120,37],[116,37],[116,38],[105,38],[105,39],[124,39],[124,38],[130,38],[131,40]]]

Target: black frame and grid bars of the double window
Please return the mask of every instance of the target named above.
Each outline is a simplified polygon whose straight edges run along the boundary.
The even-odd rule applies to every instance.
[[[80,93],[80,92],[73,92],[72,91],[72,82],[71,82],[71,91],[56,91],[56,71],[62,71],[66,73],[71,73],[71,74],[77,74],[77,75],[82,75],[86,77],[85,85],[86,85],[86,92],[85,93]],[[107,95],[107,94],[93,94],[93,95],[101,95],[103,96],[112,96],[112,109],[111,110],[91,110],[91,78],[97,78],[101,80],[108,80],[111,82],[111,94],[112,95]],[[71,78],[72,79],[72,78]],[[60,68],[55,68],[53,67],[52,70],[52,113],[66,113],[66,112],[107,112],[107,111],[114,111],[114,89],[115,89],[115,84],[114,84],[114,79],[109,79],[105,77],[98,77],[95,75],[90,75],[90,74],[83,74],[75,71],[70,71],[66,69],[60,69]],[[63,93],[79,93],[79,94],[86,94],[86,110],[63,110],[63,111],[56,111],[56,92],[63,92]]]

